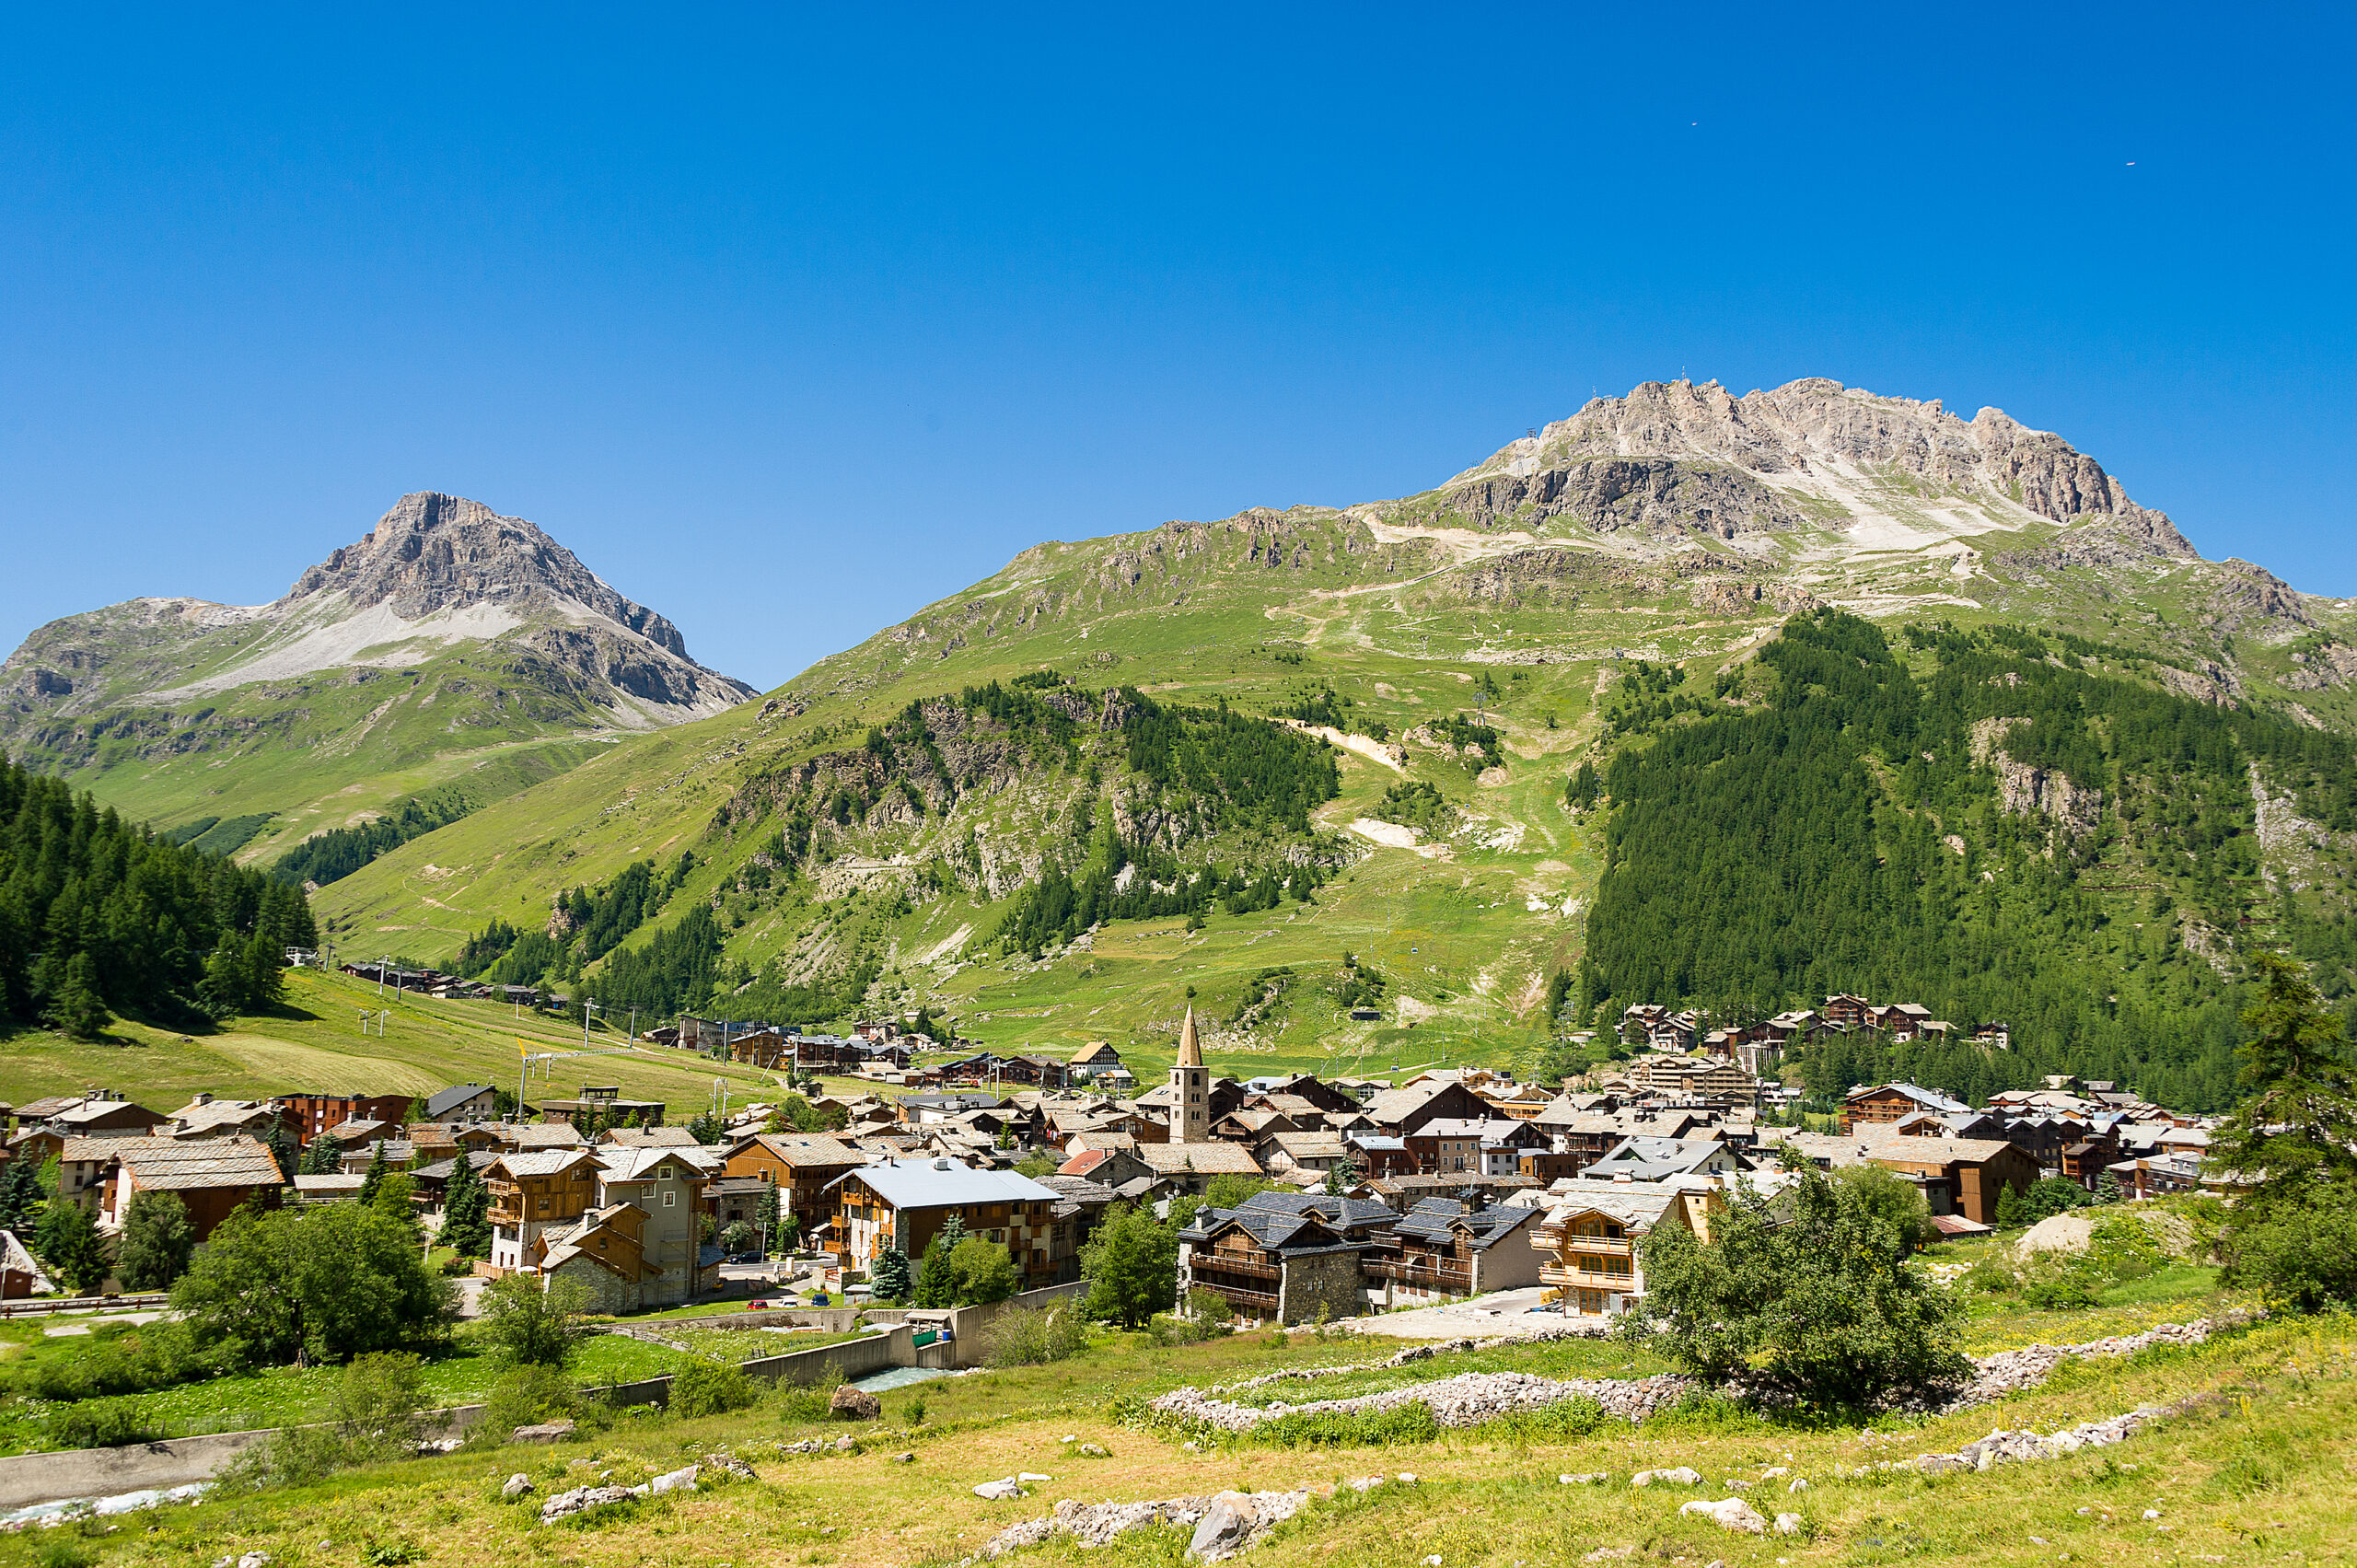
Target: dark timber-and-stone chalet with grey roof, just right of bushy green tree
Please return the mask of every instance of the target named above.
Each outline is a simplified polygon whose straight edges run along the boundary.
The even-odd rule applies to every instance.
[[[1398,1214],[1355,1198],[1259,1193],[1235,1210],[1200,1210],[1178,1233],[1178,1302],[1221,1297],[1237,1318],[1351,1318],[1365,1299],[1360,1259]]]

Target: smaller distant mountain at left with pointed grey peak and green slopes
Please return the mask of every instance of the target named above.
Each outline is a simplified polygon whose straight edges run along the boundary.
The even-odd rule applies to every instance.
[[[533,523],[422,493],[273,604],[132,599],[40,627],[0,665],[0,750],[163,828],[262,818],[233,849],[271,861],[742,696]]]

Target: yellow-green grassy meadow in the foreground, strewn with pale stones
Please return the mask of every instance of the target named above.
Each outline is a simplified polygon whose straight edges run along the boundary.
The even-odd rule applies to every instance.
[[[2178,1318],[2213,1306],[2183,1304]],[[2091,1313],[2053,1323],[1985,1323],[1975,1346],[2039,1332],[2093,1337]],[[2053,1332],[2048,1332],[2053,1330]],[[1890,1415],[1871,1424],[1768,1419],[1711,1408],[1605,1427],[1565,1443],[1516,1443],[1483,1429],[1388,1448],[1197,1445],[1188,1434],[1124,1424],[1138,1396],[1181,1384],[1235,1382],[1294,1365],[1374,1361],[1391,1342],[1318,1339],[1308,1332],[1240,1335],[1157,1346],[1103,1335],[1072,1361],[929,1382],[886,1396],[879,1424],[853,1424],[863,1452],[787,1457],[778,1445],[834,1436],[841,1424],[785,1419],[778,1405],[679,1422],[634,1417],[556,1448],[460,1452],[330,1483],[198,1509],[160,1511],[90,1533],[0,1542],[0,1561],[57,1568],[203,1568],[222,1554],[269,1551],[288,1568],[424,1561],[448,1568],[547,1563],[622,1568],[834,1568],[957,1563],[992,1533],[1047,1514],[1058,1500],[1148,1500],[1221,1488],[1332,1488],[1348,1476],[1398,1476],[1367,1495],[1313,1502],[1247,1563],[1268,1568],[1537,1568],[1541,1563],[1721,1561],[1728,1568],[1805,1563],[2324,1563],[2357,1544],[2357,1320],[2284,1320],[2199,1349],[2157,1349],[2126,1361],[2067,1365],[2046,1386],[1949,1417]],[[1600,1363],[1617,1346],[1537,1351]],[[1612,1361],[1617,1356],[1617,1361]],[[1438,1356],[1412,1377],[1440,1379],[1499,1361],[1494,1351]],[[1374,1379],[1367,1379],[1369,1386]],[[912,1422],[917,1403],[924,1419]],[[2180,1415],[2124,1445],[1987,1474],[1855,1474],[1876,1460],[1952,1450],[1994,1427],[2055,1431],[2135,1405]],[[1108,1457],[1082,1457],[1096,1443]],[[589,1481],[634,1483],[712,1448],[754,1462],[759,1481],[615,1509],[585,1526],[540,1526],[537,1509],[500,1502],[500,1483],[526,1471],[547,1497]],[[912,1450],[912,1464],[891,1455]],[[1697,1490],[1631,1490],[1636,1469],[1690,1464]],[[1787,1493],[1787,1467],[1805,1493]],[[1021,1502],[983,1502],[971,1488],[1014,1471],[1051,1476]],[[1603,1485],[1558,1485],[1558,1474],[1605,1471]],[[1796,1511],[1803,1533],[1751,1537],[1681,1516],[1690,1497],[1728,1497],[1751,1481],[1763,1511]],[[537,1502],[535,1497],[535,1502]],[[2147,1514],[2150,1511],[2150,1514]],[[1098,1568],[1176,1566],[1183,1533],[1141,1530],[1103,1551],[1051,1540],[1016,1561]],[[1596,1554],[1596,1556],[1591,1556]]]

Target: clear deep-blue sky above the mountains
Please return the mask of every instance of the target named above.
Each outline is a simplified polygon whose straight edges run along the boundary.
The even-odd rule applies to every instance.
[[[1681,373],[2357,594],[2348,7],[212,9],[7,21],[0,646],[436,488],[771,686]]]

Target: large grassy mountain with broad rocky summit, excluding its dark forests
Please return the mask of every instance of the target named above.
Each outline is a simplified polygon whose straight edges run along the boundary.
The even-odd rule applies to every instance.
[[[1652,384],[1424,495],[1039,545],[759,707],[632,738],[405,844],[321,908],[354,943],[448,957],[490,920],[544,931],[559,894],[691,851],[653,924],[712,910],[747,1002],[827,983],[839,1004],[865,981],[870,1007],[948,1007],[992,1042],[1115,1037],[1150,1061],[1193,988],[1235,1066],[1421,1063],[1501,1037],[1534,1049],[1549,979],[1579,971],[1591,941],[1612,821],[1574,809],[1565,780],[1728,700],[1721,684],[1749,689],[1784,618],[1820,606],[1959,632],[2036,625],[2081,639],[2055,660],[2284,731],[2345,733],[2357,717],[2348,601],[2201,561],[2055,436],[1831,382],[1747,398]],[[1075,889],[1089,861],[1056,823],[1070,799],[1049,778],[1063,773],[1042,771],[959,806],[983,813],[985,844],[1056,849],[1018,856],[1016,877],[943,884],[931,858],[955,856],[922,828],[830,842],[792,896],[775,891],[778,856],[757,861],[766,830],[738,821],[757,780],[858,750],[910,703],[1035,672],[1315,729],[1336,747],[1336,795],[1308,813],[1310,839],[1348,844],[1351,863],[1313,903],[1219,903],[1200,929],[1115,917],[1035,960],[999,936],[1047,861]],[[2209,811],[2258,832],[2249,790]],[[2336,842],[2308,851],[2319,901],[2341,896],[2338,856]],[[1351,1019],[1369,974],[1379,1016]],[[1864,960],[1853,983],[1780,976],[1883,983]]]

